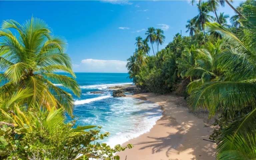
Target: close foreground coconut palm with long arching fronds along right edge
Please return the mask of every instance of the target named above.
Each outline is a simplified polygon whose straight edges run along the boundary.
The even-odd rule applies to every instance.
[[[217,23],[207,23],[206,30],[220,33],[230,46],[228,51],[218,56],[218,67],[225,68],[228,75],[224,81],[203,83],[188,98],[190,107],[208,110],[209,116],[218,110],[226,110],[232,116],[243,107],[252,106],[250,113],[223,130],[217,148],[217,157],[221,160],[255,159],[256,155],[255,13],[255,6],[243,9],[248,18],[241,21],[244,26],[241,35],[246,37],[242,40]]]

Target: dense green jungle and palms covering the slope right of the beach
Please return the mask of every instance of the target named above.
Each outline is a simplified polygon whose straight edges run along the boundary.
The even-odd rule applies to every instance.
[[[231,25],[229,15],[217,13],[225,3],[236,13]],[[198,15],[187,21],[189,36],[177,33],[157,52],[153,47],[165,40],[161,29],[149,27],[145,42],[136,39],[140,45],[128,59],[129,77],[143,92],[175,91],[191,110],[217,117],[210,136],[218,145],[217,159],[255,160],[256,1],[237,8],[228,0],[198,1],[197,8]]]

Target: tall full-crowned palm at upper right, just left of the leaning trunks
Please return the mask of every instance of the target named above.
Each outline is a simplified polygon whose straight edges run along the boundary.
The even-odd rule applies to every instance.
[[[209,22],[209,19],[212,20],[213,17],[208,15],[208,13],[209,13],[208,3],[202,2],[200,4],[197,4],[197,7],[198,7],[199,14],[197,16],[195,16],[193,19],[195,20],[195,25],[198,27],[198,29],[203,30],[204,40],[205,40],[205,43],[206,43],[206,35],[205,35],[205,30],[204,30],[204,24],[206,22]]]

